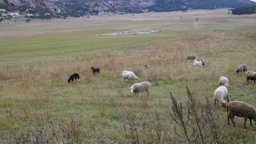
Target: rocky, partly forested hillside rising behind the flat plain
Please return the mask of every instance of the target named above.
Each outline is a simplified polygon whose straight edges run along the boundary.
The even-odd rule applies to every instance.
[[[142,13],[146,11],[172,12],[195,9],[236,8],[256,4],[250,0],[0,0],[0,8],[25,12],[30,8],[38,13],[67,13],[79,17],[103,12]]]

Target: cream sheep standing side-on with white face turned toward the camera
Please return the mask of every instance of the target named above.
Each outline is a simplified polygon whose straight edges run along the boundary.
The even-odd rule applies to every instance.
[[[147,92],[147,97],[149,94],[149,98],[151,98],[151,93],[149,91],[151,84],[149,82],[141,82],[141,83],[137,83],[137,84],[133,84],[129,90],[131,93],[134,92],[134,98],[136,93],[138,93],[138,97],[140,98],[139,92]]]

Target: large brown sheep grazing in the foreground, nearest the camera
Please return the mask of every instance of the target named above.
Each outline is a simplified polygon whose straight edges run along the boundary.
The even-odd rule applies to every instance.
[[[228,113],[229,110],[229,113]],[[250,125],[252,126],[252,119],[254,121],[254,124],[256,124],[256,109],[244,103],[243,101],[230,101],[227,104],[226,108],[226,114],[228,116],[228,125],[229,125],[229,118],[231,119],[231,122],[236,126],[234,122],[234,117],[244,117],[244,128],[246,129],[246,121],[247,119],[250,119]]]

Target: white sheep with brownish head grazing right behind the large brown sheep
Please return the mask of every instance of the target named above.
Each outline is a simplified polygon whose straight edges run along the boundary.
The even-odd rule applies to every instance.
[[[214,91],[214,106],[216,104],[216,100],[218,102],[220,102],[220,105],[224,108],[226,108],[227,106],[227,102],[224,100],[225,98],[227,98],[227,100],[229,101],[228,98],[228,87],[229,85],[223,85],[218,87],[215,91]]]

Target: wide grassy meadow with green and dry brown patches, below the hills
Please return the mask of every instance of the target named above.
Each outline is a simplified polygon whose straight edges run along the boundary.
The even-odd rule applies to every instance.
[[[220,76],[229,101],[256,106],[253,81],[234,73],[240,64],[256,71],[256,15],[227,10],[2,21],[0,143],[255,143],[256,125],[227,125],[214,106]],[[96,36],[146,28],[169,29]],[[123,70],[150,82],[151,98],[133,98]],[[73,73],[80,84],[67,82]]]

